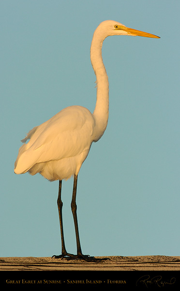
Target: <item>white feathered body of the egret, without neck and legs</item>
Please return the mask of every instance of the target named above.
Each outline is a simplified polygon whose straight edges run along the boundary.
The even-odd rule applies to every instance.
[[[19,149],[15,173],[40,173],[50,181],[71,178],[78,174],[86,159],[95,122],[90,111],[70,106],[34,129],[31,129]]]

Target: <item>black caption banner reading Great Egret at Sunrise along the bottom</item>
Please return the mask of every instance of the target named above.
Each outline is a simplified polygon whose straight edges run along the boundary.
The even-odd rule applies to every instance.
[[[109,288],[119,290],[180,289],[180,271],[1,271],[1,290],[40,287],[52,290]]]

